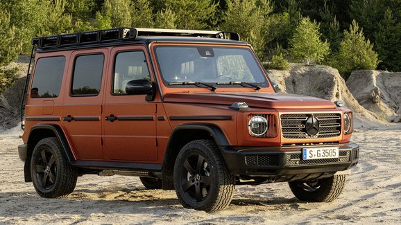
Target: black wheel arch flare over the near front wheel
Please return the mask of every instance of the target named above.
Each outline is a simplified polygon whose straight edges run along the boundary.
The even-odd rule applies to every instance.
[[[162,187],[163,190],[173,190],[173,170],[178,153],[190,141],[198,139],[209,139],[218,146],[230,145],[220,127],[212,124],[185,124],[173,129],[162,164]]]

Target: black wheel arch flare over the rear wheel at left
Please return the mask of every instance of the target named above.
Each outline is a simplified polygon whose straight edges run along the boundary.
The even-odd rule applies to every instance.
[[[69,162],[74,161],[74,154],[71,152],[71,148],[69,147],[67,138],[65,138],[65,134],[62,131],[61,127],[54,124],[40,124],[32,127],[28,136],[28,149],[26,151],[26,160],[24,163],[24,178],[26,182],[31,182],[31,156],[33,153],[33,149],[36,144],[42,140],[43,138],[55,137],[60,142],[62,149],[67,156],[67,160]]]

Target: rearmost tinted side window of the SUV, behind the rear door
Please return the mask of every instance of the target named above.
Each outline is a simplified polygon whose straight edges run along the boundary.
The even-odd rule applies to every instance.
[[[65,57],[44,57],[37,60],[31,98],[56,98],[60,94]]]

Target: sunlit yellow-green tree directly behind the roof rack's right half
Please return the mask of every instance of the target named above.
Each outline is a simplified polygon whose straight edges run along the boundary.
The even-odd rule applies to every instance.
[[[216,4],[210,0],[166,0],[165,7],[176,14],[179,29],[202,30],[215,24]]]

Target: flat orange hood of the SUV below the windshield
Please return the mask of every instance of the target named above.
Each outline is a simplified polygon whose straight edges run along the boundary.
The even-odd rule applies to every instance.
[[[222,92],[222,93],[167,93],[164,102],[206,103],[232,105],[246,102],[249,107],[268,109],[335,109],[330,100],[289,93]]]

